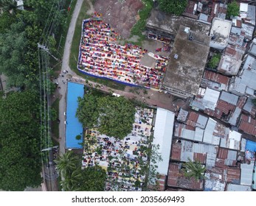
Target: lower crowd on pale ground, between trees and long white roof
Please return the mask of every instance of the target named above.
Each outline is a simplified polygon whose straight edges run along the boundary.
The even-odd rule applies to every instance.
[[[82,166],[105,168],[108,174],[105,191],[141,190],[145,181],[142,166],[148,163],[145,148],[151,137],[152,121],[153,109],[137,107],[133,130],[123,140],[102,135],[97,129],[86,130]]]

